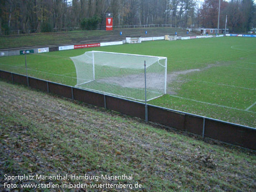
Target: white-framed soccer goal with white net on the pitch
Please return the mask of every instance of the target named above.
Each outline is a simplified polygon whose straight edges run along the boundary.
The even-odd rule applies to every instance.
[[[71,59],[76,87],[145,101],[146,71],[147,101],[166,94],[166,57],[88,51]]]

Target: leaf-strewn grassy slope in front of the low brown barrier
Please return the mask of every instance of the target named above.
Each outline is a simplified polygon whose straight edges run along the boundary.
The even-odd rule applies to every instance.
[[[48,182],[138,182],[144,191],[256,190],[255,152],[205,143],[23,86],[0,81],[0,87],[1,190],[4,183]],[[133,174],[133,180],[7,182],[5,174]]]

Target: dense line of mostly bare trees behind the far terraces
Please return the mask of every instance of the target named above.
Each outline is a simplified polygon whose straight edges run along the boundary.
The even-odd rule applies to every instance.
[[[217,28],[219,0],[0,0],[0,34],[47,32],[61,28],[95,29],[113,25],[172,24],[183,28]],[[247,32],[256,27],[253,0],[221,0],[220,28]],[[88,28],[88,22],[94,22]]]

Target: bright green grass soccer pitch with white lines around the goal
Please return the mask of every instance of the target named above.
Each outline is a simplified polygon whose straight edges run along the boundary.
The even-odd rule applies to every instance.
[[[27,55],[28,74],[75,86],[69,57],[90,50],[167,57],[168,94],[149,103],[256,127],[256,38],[154,41]],[[26,74],[25,56],[1,57],[0,69]]]

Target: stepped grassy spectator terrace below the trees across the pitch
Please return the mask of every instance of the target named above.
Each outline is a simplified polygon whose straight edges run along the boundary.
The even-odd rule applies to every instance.
[[[120,35],[122,31],[122,35]],[[147,34],[145,33],[147,31]],[[195,36],[195,33],[181,28],[136,28],[117,29],[112,31],[69,31],[53,33],[33,33],[20,35],[2,35],[0,37],[0,50],[21,48],[34,48],[38,46],[57,46],[68,44],[90,44],[109,41],[124,40],[126,36],[157,37],[164,35]],[[32,36],[32,37],[31,37]]]

